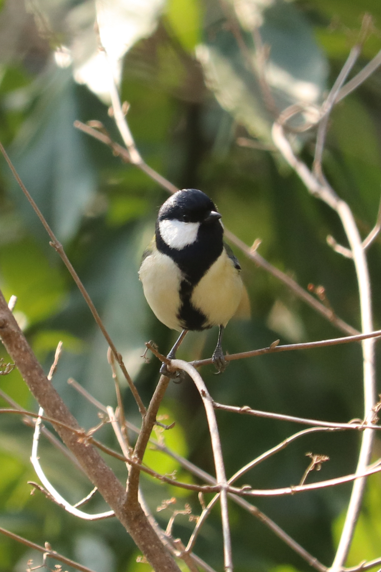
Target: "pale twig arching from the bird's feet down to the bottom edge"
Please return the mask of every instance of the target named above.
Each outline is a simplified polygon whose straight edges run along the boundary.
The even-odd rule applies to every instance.
[[[171,366],[179,370],[185,371],[193,380],[203,402],[206,412],[206,418],[209,427],[209,433],[212,444],[214,466],[216,471],[216,480],[220,487],[220,504],[221,504],[221,519],[222,519],[222,534],[224,546],[224,569],[226,572],[232,572],[232,554],[231,554],[231,539],[230,527],[227,508],[227,480],[225,475],[225,468],[223,463],[222,448],[219,438],[218,425],[215,418],[213,400],[203,382],[202,377],[189,363],[183,360],[171,360]]]

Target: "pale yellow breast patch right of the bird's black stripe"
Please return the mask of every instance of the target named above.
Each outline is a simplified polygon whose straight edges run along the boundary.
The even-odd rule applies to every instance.
[[[195,286],[191,303],[207,317],[208,325],[226,325],[238,308],[242,288],[239,271],[223,250]]]

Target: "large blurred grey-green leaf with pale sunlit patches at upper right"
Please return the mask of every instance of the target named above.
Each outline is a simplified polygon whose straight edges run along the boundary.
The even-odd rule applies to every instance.
[[[239,34],[246,49],[240,48],[227,23],[221,23],[224,16],[214,10],[208,21],[207,40],[198,46],[196,55],[219,104],[252,136],[270,142],[274,117],[253,71],[258,64],[248,31],[254,27],[251,19],[256,19],[255,25],[263,22],[259,33],[270,50],[263,73],[279,112],[300,101],[319,102],[326,85],[327,62],[311,27],[290,2],[271,3],[266,10],[260,2],[250,6],[247,12],[238,13],[242,26]]]

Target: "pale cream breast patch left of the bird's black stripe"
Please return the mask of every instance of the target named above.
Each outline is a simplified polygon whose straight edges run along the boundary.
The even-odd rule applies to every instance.
[[[179,312],[181,272],[167,255],[154,251],[142,262],[139,278],[144,295],[155,316],[168,328],[182,330]]]

